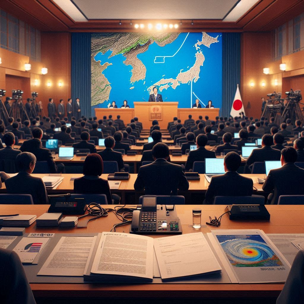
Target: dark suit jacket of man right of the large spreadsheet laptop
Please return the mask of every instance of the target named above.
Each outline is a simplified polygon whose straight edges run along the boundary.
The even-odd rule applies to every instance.
[[[228,171],[223,175],[212,176],[205,199],[208,204],[212,204],[216,196],[251,196],[252,192],[251,178],[241,176],[235,171]]]

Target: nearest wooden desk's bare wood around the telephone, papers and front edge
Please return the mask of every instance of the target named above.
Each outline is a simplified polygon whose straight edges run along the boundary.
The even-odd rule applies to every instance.
[[[105,208],[114,206],[104,205]],[[224,213],[223,205],[203,205],[202,228],[192,228],[192,209],[196,205],[175,206],[181,220],[183,233],[203,232],[207,233],[213,229],[262,229],[265,233],[304,233],[304,205],[268,205],[270,221],[231,221],[223,216],[220,228],[213,228],[204,225],[209,221],[209,216],[220,216]],[[36,214],[37,216],[47,212],[49,205],[0,205],[1,214]],[[297,219],[295,221],[295,219]],[[97,233],[109,231],[114,223],[119,220],[115,214],[109,213],[107,217],[97,219],[88,224],[87,228],[36,228],[32,224],[26,228],[26,233]],[[129,225],[117,227],[118,232],[128,232]],[[152,237],[157,237],[153,236]],[[168,298],[179,301],[179,298],[211,299],[230,298],[230,301],[237,302],[238,298],[260,298],[261,300],[275,298],[283,288],[283,284],[31,284],[34,296],[39,298],[111,298],[117,300],[122,298]],[[93,300],[93,299],[92,299]],[[78,299],[81,301],[81,299]],[[243,302],[242,302],[243,301]],[[242,300],[238,303],[244,303]],[[264,302],[263,302],[264,303]],[[271,302],[272,303],[272,302]]]

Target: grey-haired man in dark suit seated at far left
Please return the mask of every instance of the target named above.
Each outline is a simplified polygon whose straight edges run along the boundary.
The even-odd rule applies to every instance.
[[[36,164],[33,153],[22,152],[16,157],[16,168],[19,173],[5,180],[9,194],[30,194],[34,204],[47,204],[47,190],[40,177],[31,176]]]

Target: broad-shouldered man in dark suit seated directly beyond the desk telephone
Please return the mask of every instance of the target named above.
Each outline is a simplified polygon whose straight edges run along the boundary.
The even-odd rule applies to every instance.
[[[165,143],[157,143],[152,154],[154,162],[140,167],[135,191],[145,189],[145,195],[177,195],[178,189],[186,191],[189,183],[180,165],[169,163],[169,148]]]

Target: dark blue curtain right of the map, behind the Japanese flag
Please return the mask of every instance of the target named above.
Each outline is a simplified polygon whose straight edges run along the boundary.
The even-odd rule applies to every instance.
[[[223,33],[222,41],[221,115],[229,117],[237,84],[240,88],[240,33]]]

